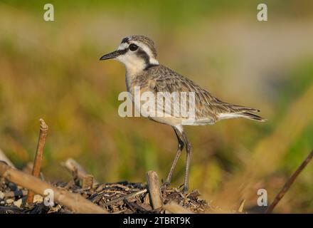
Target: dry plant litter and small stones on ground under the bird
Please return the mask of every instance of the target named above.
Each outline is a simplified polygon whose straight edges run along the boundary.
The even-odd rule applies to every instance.
[[[82,195],[91,202],[104,207],[110,213],[132,214],[132,213],[164,213],[164,209],[152,209],[149,201],[147,184],[134,182],[115,182],[95,184],[92,187],[82,188],[79,182],[51,183],[55,187],[62,188],[69,192]],[[72,213],[61,204],[55,203],[46,207],[41,196],[33,203],[26,204],[27,190],[14,183],[0,180],[0,214],[51,214]],[[37,195],[36,195],[37,196]],[[163,203],[176,202],[194,213],[209,212],[211,206],[204,199],[199,198],[198,190],[187,194],[176,188],[168,188],[163,192]]]

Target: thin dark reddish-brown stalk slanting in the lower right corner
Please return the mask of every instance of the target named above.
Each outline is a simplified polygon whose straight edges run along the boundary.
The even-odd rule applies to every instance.
[[[280,199],[282,199],[282,197],[284,197],[286,192],[290,189],[292,183],[295,182],[295,180],[298,177],[298,175],[300,174],[300,172],[302,172],[302,170],[304,170],[304,167],[307,166],[307,164],[312,159],[312,157],[313,157],[313,150],[309,153],[307,158],[302,162],[302,164],[297,168],[297,170],[294,172],[294,174],[285,183],[284,187],[282,187],[282,190],[280,190],[280,192],[276,195],[272,204],[270,204],[270,207],[267,207],[265,214],[272,213],[273,209],[276,207],[278,202],[280,202]]]

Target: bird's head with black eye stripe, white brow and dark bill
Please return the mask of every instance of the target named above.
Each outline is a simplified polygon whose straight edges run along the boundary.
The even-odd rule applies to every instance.
[[[127,70],[142,71],[147,66],[159,65],[154,42],[147,36],[127,36],[122,39],[116,51],[100,58],[114,58],[124,63]]]

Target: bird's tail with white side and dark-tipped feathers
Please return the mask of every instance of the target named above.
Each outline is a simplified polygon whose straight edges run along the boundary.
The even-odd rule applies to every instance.
[[[219,120],[230,119],[230,118],[247,118],[249,120],[256,120],[260,122],[266,121],[265,118],[255,115],[253,112],[260,112],[255,108],[248,108],[240,105],[231,105],[228,107],[230,111],[228,113],[220,113],[218,115]]]

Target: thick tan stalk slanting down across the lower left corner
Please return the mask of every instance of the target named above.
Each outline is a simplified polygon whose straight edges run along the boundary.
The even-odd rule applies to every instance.
[[[31,190],[38,195],[42,195],[43,197],[46,197],[46,195],[44,195],[46,190],[52,190],[55,202],[63,204],[72,212],[85,214],[107,213],[107,210],[93,204],[78,193],[72,193],[58,187],[54,187],[37,177],[33,177],[32,175],[28,175],[10,167],[9,165],[6,165],[5,162],[0,162],[0,176],[6,178],[9,182],[14,182],[16,185],[25,187],[26,189]]]

